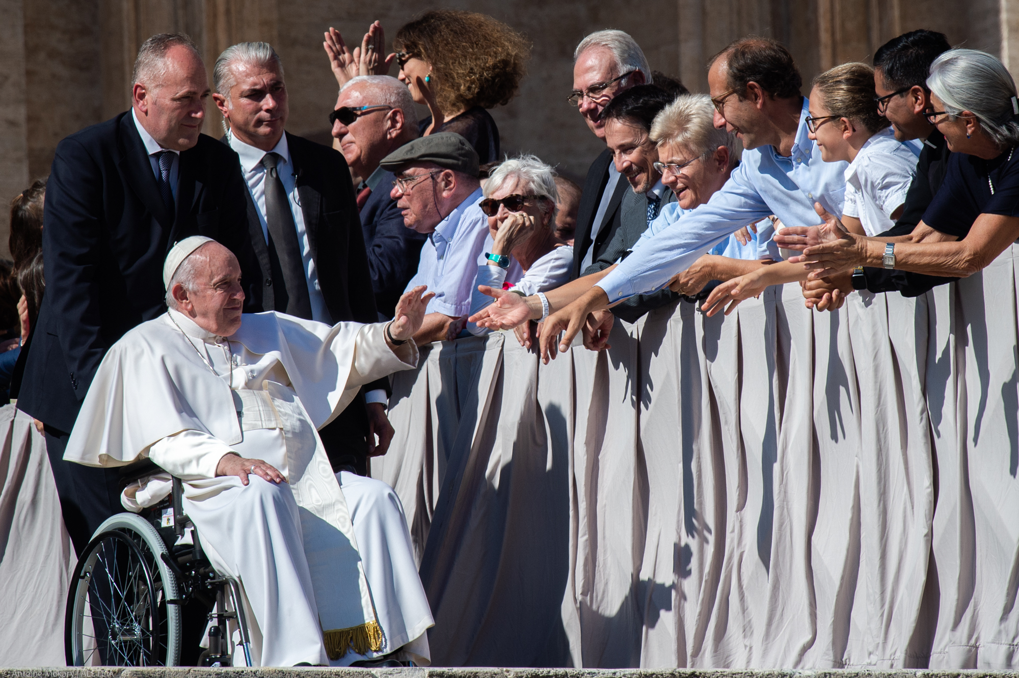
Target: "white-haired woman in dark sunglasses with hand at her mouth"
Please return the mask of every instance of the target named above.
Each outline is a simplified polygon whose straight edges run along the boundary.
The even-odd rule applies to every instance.
[[[555,172],[534,156],[502,162],[485,182],[482,212],[488,216],[491,251],[484,253],[474,280],[471,315],[492,302],[479,286],[523,296],[545,292],[570,280],[573,247],[555,237]],[[519,265],[511,265],[516,262]],[[469,324],[468,331],[490,330]]]

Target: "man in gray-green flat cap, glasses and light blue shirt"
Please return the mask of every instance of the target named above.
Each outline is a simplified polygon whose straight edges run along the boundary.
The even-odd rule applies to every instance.
[[[420,344],[454,339],[471,310],[471,287],[488,235],[488,218],[478,204],[478,154],[460,134],[422,136],[386,156],[381,167],[396,180],[389,195],[404,212],[404,225],[428,235],[411,290],[427,285],[428,302]]]

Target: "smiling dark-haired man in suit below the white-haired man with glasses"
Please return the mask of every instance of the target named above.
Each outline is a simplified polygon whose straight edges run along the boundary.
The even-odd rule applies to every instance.
[[[601,111],[605,144],[612,153],[615,171],[627,179],[631,190],[620,200],[620,209],[607,228],[598,233],[593,249],[599,255],[582,272],[604,271],[623,258],[640,239],[661,208],[676,195],[661,182],[654,167],[658,150],[651,140],[651,123],[675,97],[657,84],[638,84],[608,102]],[[668,289],[638,294],[612,307],[616,318],[633,323],[647,312],[675,301],[679,294]]]

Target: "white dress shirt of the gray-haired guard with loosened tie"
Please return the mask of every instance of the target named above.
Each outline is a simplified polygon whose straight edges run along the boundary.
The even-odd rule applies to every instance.
[[[262,222],[262,236],[269,242],[269,226],[265,220],[265,178],[268,176],[265,166],[262,165],[262,158],[266,152],[256,149],[239,140],[235,134],[229,135],[230,148],[236,151],[240,157],[240,169],[245,174],[245,181],[248,182],[248,190],[251,191],[252,200],[255,201],[255,211],[258,212],[258,219]],[[301,259],[305,268],[305,279],[308,281],[308,296],[312,304],[312,320],[320,323],[332,325],[332,317],[325,305],[325,297],[322,296],[322,288],[319,287],[318,270],[315,268],[315,259],[312,257],[311,241],[308,238],[308,231],[305,228],[305,215],[301,209],[301,199],[298,195],[297,181],[293,172],[293,163],[290,161],[290,150],[286,145],[286,134],[279,137],[279,144],[270,153],[279,155],[276,172],[279,180],[283,182],[283,189],[290,202],[290,214],[293,215],[293,225],[298,229],[298,242],[301,243]]]

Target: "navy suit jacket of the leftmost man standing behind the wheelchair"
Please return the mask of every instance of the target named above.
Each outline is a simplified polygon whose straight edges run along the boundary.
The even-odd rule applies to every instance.
[[[233,151],[202,134],[180,154],[170,219],[130,111],[57,145],[46,185],[46,294],[33,328],[17,406],[63,432],[107,349],[166,310],[163,262],[206,235],[252,261],[246,187]]]

